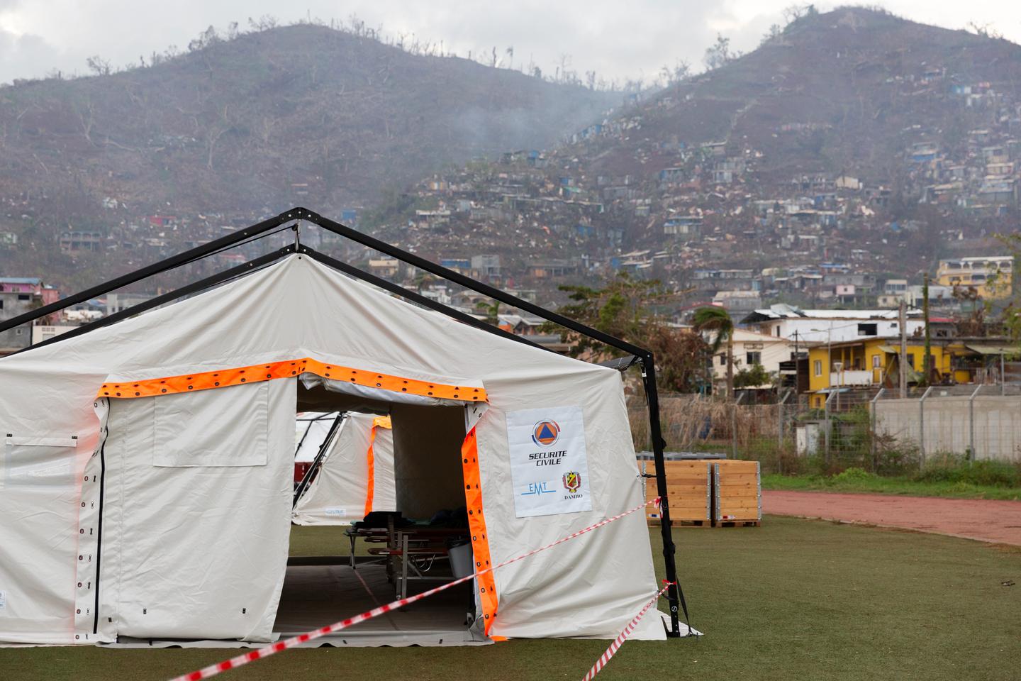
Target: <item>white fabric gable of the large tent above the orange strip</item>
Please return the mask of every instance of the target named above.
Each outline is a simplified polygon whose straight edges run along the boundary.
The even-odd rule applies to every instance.
[[[290,255],[187,300],[0,358],[0,372],[89,374],[101,384],[305,356],[469,386],[612,371],[474,329]]]

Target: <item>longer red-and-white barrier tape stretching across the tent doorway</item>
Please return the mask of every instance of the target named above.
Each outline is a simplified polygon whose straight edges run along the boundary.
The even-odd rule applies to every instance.
[[[467,582],[469,580],[475,579],[476,577],[478,577],[480,575],[485,575],[486,573],[492,572],[493,570],[496,570],[497,568],[502,568],[504,566],[510,565],[512,563],[517,563],[518,561],[523,561],[523,560],[525,560],[527,557],[535,555],[536,553],[538,553],[540,551],[544,551],[547,548],[552,548],[553,546],[557,546],[560,544],[563,544],[566,541],[570,541],[571,539],[574,539],[575,537],[579,537],[579,536],[581,536],[583,534],[591,532],[592,530],[596,530],[596,529],[598,529],[598,528],[600,528],[600,527],[602,527],[604,525],[610,525],[614,521],[618,521],[618,520],[624,518],[625,516],[628,516],[630,514],[635,513],[636,510],[641,510],[642,508],[644,508],[645,506],[649,505],[650,503],[654,503],[654,504],[659,505],[660,504],[660,497],[655,497],[651,501],[646,501],[645,503],[637,505],[634,508],[630,508],[628,510],[625,510],[623,514],[619,514],[617,516],[614,516],[613,518],[607,518],[606,520],[599,521],[598,523],[595,523],[594,525],[589,525],[587,528],[585,528],[583,530],[578,530],[574,534],[570,534],[570,535],[568,535],[568,536],[566,536],[566,537],[564,537],[562,539],[557,539],[556,541],[552,542],[551,544],[546,544],[545,546],[542,546],[540,548],[536,548],[534,550],[531,550],[528,553],[522,553],[518,557],[510,558],[508,561],[504,561],[503,563],[498,563],[497,565],[494,565],[494,566],[491,566],[491,567],[486,568],[484,570],[480,570],[480,571],[478,571],[476,573],[473,573],[473,574],[469,575],[468,577],[461,577],[460,579],[455,579],[452,582],[447,582],[446,584],[441,584],[440,586],[437,586],[436,588],[433,588],[433,589],[429,589],[428,591],[423,591],[422,593],[417,593],[414,596],[408,596],[407,598],[400,598],[398,600],[394,600],[392,602],[389,602],[389,603],[387,603],[385,605],[381,605],[379,607],[374,607],[373,610],[367,611],[367,612],[362,613],[361,615],[355,615],[352,618],[348,618],[346,620],[341,620],[340,622],[335,622],[334,624],[328,625],[326,627],[321,627],[321,628],[319,628],[319,629],[317,629],[314,631],[309,631],[307,633],[300,634],[299,636],[292,636],[291,638],[286,638],[286,639],[284,639],[282,641],[277,641],[276,643],[263,646],[261,648],[256,648],[254,650],[249,650],[248,652],[246,652],[244,654],[241,654],[241,655],[237,655],[236,658],[231,658],[230,660],[225,660],[224,662],[216,663],[215,665],[209,665],[208,667],[203,667],[202,669],[200,669],[198,671],[195,671],[195,672],[191,672],[189,674],[184,674],[182,676],[174,677],[173,679],[171,679],[171,681],[199,681],[200,679],[208,679],[210,677],[216,676],[217,674],[220,674],[222,672],[226,672],[228,670],[236,669],[236,668],[241,667],[243,665],[247,665],[250,662],[255,662],[256,660],[261,660],[262,658],[269,658],[270,655],[275,654],[277,652],[280,652],[281,650],[286,650],[287,648],[293,648],[294,646],[299,645],[301,643],[304,643],[305,641],[310,641],[310,640],[320,638],[322,636],[326,636],[327,634],[332,634],[334,632],[341,631],[342,629],[347,629],[348,627],[351,627],[351,626],[354,626],[354,625],[359,624],[361,622],[364,622],[366,620],[372,620],[373,618],[379,617],[380,615],[383,615],[385,613],[389,613],[390,611],[395,611],[398,607],[403,607],[404,605],[407,605],[408,603],[414,603],[417,600],[422,600],[423,598],[431,596],[434,593],[439,593],[440,591],[445,591],[446,589],[449,589],[449,588],[451,588],[453,586],[456,586],[458,584],[464,584],[465,582]],[[645,610],[648,610],[648,607],[646,606]],[[644,615],[644,611],[642,611],[642,614]]]

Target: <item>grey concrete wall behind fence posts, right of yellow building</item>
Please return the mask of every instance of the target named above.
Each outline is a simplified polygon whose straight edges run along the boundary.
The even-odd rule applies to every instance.
[[[964,455],[974,437],[975,458],[1021,459],[1021,397],[980,395],[969,408],[969,397],[880,399],[873,403],[875,430],[921,446],[926,456]],[[974,435],[971,418],[974,415]]]

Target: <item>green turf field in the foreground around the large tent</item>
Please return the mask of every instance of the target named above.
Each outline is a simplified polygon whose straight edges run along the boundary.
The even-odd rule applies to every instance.
[[[330,532],[299,529],[292,551],[336,552]],[[653,531],[659,558],[658,536]],[[1021,547],[779,517],[767,517],[761,528],[679,529],[675,541],[691,624],[707,635],[629,642],[600,679],[1021,676]],[[1017,585],[1004,585],[1011,581]],[[580,679],[605,645],[521,640],[466,648],[297,649],[222,678]],[[7,648],[0,649],[0,679],[165,679],[230,653]]]

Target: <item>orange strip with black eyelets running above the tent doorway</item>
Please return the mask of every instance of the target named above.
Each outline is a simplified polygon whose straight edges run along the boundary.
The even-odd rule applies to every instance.
[[[328,364],[311,357],[285,359],[283,361],[239,367],[237,369],[217,369],[214,372],[205,372],[202,374],[187,374],[123,383],[104,383],[99,389],[99,397],[131,399],[135,397],[171,395],[188,391],[223,388],[242,383],[291,378],[302,372],[310,372],[327,378],[349,381],[350,383],[369,388],[382,388],[383,390],[406,392],[414,395],[456,399],[463,402],[484,402],[487,399],[485,388],[417,381],[399,376],[351,369],[350,367]]]

